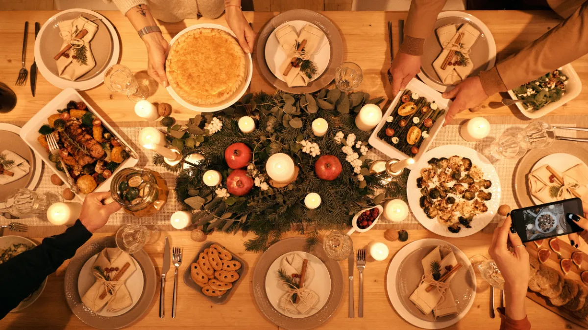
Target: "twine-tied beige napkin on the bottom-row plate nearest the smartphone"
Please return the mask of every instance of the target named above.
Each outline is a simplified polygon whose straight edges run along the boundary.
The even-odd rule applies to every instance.
[[[445,282],[437,282],[433,278],[433,272],[431,269],[432,262],[437,262],[439,264],[441,275],[447,272],[447,270],[445,270],[446,266],[452,265],[455,267],[457,265],[457,260],[453,251],[449,252],[443,260],[441,259],[442,248],[444,249],[443,251],[451,251],[451,248],[446,247],[445,245],[439,245],[423,258],[422,265],[425,274],[423,275],[419,286],[409,297],[410,301],[415,304],[419,311],[425,315],[429,315],[433,312],[435,318],[457,314],[455,299],[453,298],[451,289],[449,289],[449,282],[455,277],[455,274],[447,278],[447,281]],[[435,285],[435,288],[430,292],[427,292],[426,289],[432,284]]]

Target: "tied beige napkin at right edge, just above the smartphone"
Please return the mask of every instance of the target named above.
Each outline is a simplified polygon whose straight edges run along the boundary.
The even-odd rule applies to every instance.
[[[555,174],[563,179],[563,185]],[[529,173],[530,193],[542,203],[574,198],[576,194],[588,203],[588,167],[585,164],[577,164],[563,173],[555,171],[555,174],[547,165]]]

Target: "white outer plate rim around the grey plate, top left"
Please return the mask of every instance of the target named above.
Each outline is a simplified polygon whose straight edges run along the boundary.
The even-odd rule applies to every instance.
[[[69,12],[82,12],[82,13],[96,16],[96,18],[101,19],[102,23],[104,23],[104,25],[106,25],[106,27],[108,28],[108,31],[110,32],[110,35],[112,37],[112,55],[111,55],[111,59],[108,62],[108,65],[105,66],[104,70],[110,68],[112,65],[115,65],[118,62],[118,55],[120,52],[119,43],[121,41],[118,38],[118,34],[116,33],[116,29],[114,28],[112,23],[110,21],[108,21],[108,19],[106,19],[104,16],[98,14],[95,11],[90,11],[88,9],[82,9],[82,8],[74,8],[74,9],[67,9],[65,11],[58,12],[57,14],[51,16],[51,18],[49,18],[41,26],[41,29],[39,30],[39,34],[35,38],[35,63],[37,65],[37,67],[39,68],[39,72],[41,72],[41,75],[45,79],[47,79],[48,82],[50,82],[52,85],[54,85],[56,87],[59,87],[61,89],[66,89],[66,88],[71,87],[76,90],[91,89],[93,87],[100,85],[102,82],[104,82],[103,73],[96,75],[92,79],[83,80],[83,81],[79,81],[79,82],[67,80],[67,79],[63,79],[59,76],[54,75],[51,71],[49,71],[49,69],[47,68],[47,66],[45,65],[45,63],[42,60],[41,39],[43,38],[43,33],[45,32],[45,29],[47,29],[50,24],[54,23],[54,21],[56,19],[58,19],[59,16],[66,14],[66,13],[69,13]],[[98,45],[93,45],[93,46],[96,47]]]

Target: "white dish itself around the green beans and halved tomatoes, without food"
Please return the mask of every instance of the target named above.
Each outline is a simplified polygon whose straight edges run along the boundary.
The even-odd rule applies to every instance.
[[[447,110],[449,110],[449,105],[452,103],[452,101],[447,100],[447,99],[443,99],[443,97],[441,96],[441,93],[439,93],[435,89],[432,89],[431,87],[427,86],[425,83],[420,82],[420,80],[418,80],[416,78],[413,78],[412,80],[410,80],[408,85],[406,85],[406,89],[409,89],[412,92],[418,93],[419,96],[426,97],[428,102],[435,101],[437,103],[437,105],[439,105],[442,109],[445,109],[445,114],[443,114],[443,117],[441,117],[440,119],[437,119],[435,124],[433,124],[433,127],[431,127],[429,129],[429,136],[426,137],[425,139],[423,139],[423,143],[420,144],[419,153],[417,153],[415,155],[415,157],[412,157],[415,160],[415,163],[410,166],[407,166],[407,168],[409,170],[412,170],[419,163],[420,157],[423,156],[423,154],[427,151],[427,149],[429,149],[429,146],[433,142],[433,139],[435,139],[435,136],[437,135],[437,133],[439,132],[439,130],[443,126],[443,123],[445,123],[445,116],[447,115]],[[403,92],[404,92],[404,90],[400,90],[400,92],[396,95],[396,97],[394,98],[394,100],[392,101],[392,103],[390,104],[388,109],[386,110],[386,113],[384,113],[382,120],[380,121],[379,124],[377,124],[376,128],[373,130],[372,135],[370,135],[369,140],[368,140],[369,144],[371,144],[377,150],[382,151],[382,153],[386,154],[386,156],[391,157],[391,158],[395,158],[395,159],[399,159],[399,160],[407,159],[409,156],[407,156],[402,151],[396,149],[395,147],[393,147],[389,143],[381,140],[379,137],[377,137],[377,133],[380,132],[380,130],[382,129],[384,124],[386,124],[386,118],[388,116],[390,116],[390,113],[392,113],[392,111],[394,110],[394,108],[396,107],[398,102],[400,102],[400,96],[402,96]]]

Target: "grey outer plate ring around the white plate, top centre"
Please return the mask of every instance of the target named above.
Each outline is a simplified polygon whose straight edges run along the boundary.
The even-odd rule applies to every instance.
[[[278,28],[278,26],[289,21],[307,21],[313,23],[325,33],[325,36],[330,43],[331,58],[325,72],[323,72],[318,79],[313,80],[305,87],[288,87],[285,82],[273,75],[265,60],[265,44],[268,41],[270,34],[273,30]],[[335,69],[343,63],[343,39],[341,39],[337,26],[324,15],[306,9],[294,9],[274,16],[263,26],[261,31],[259,31],[255,48],[255,59],[263,78],[268,80],[268,82],[277,89],[289,93],[312,93],[325,87],[335,78]]]

